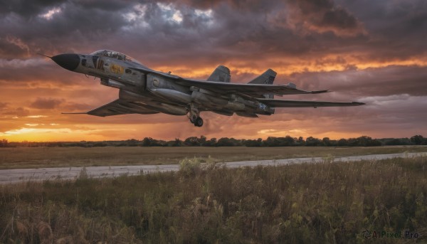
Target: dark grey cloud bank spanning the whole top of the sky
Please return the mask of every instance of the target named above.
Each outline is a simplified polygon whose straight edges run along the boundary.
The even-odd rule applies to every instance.
[[[402,4],[389,1],[161,1],[169,10],[154,1],[30,2],[28,9],[20,7],[26,2],[4,3],[9,9],[0,17],[4,58],[110,48],[153,65],[242,59],[256,65],[257,59],[278,55],[310,58],[352,51],[366,61],[426,50],[420,41],[426,35],[422,1],[406,7],[406,14],[399,11]],[[53,8],[60,12],[41,17]],[[182,20],[173,21],[174,14]],[[410,33],[421,49],[404,45],[408,37],[400,32]]]

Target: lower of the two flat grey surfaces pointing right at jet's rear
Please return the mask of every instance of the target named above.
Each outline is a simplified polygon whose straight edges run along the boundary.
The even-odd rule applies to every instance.
[[[325,102],[279,99],[258,99],[258,101],[269,107],[348,107],[364,105],[363,102]]]

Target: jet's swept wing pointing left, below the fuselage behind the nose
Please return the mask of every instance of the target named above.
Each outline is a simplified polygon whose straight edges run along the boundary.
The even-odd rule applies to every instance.
[[[95,110],[90,110],[89,112],[63,112],[63,114],[87,114],[100,117],[128,114],[151,115],[157,113],[159,112],[149,110],[145,107],[136,105],[135,103],[125,102],[120,99],[107,103],[106,105],[102,105],[101,107],[97,107]]]

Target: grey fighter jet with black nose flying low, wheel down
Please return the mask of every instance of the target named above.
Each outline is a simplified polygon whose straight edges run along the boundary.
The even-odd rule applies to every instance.
[[[48,56],[47,56],[48,57]],[[186,115],[196,127],[204,122],[201,112],[220,115],[258,117],[273,115],[275,107],[343,107],[364,105],[362,102],[322,102],[274,99],[275,95],[317,94],[328,90],[306,91],[293,83],[273,85],[275,71],[268,69],[247,84],[231,83],[230,70],[219,65],[207,80],[181,78],[171,72],[147,68],[129,55],[100,50],[90,54],[63,53],[51,58],[62,68],[100,78],[100,83],[119,89],[119,96],[87,114],[112,116],[159,112]],[[71,113],[68,113],[71,114]]]

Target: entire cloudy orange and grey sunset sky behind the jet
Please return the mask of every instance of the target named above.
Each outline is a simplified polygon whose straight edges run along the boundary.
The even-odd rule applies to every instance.
[[[0,139],[80,141],[190,136],[374,138],[427,136],[427,1],[0,0]],[[277,84],[359,101],[361,107],[278,109],[258,119],[202,113],[204,127],[172,115],[81,112],[118,90],[36,53],[126,53],[144,65],[207,78],[217,65],[245,83],[264,70]]]

